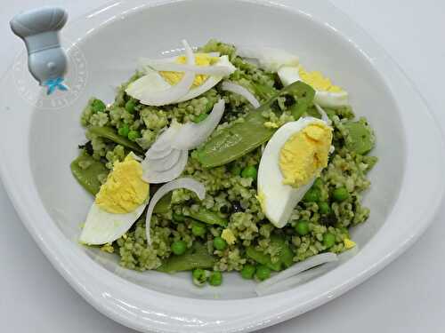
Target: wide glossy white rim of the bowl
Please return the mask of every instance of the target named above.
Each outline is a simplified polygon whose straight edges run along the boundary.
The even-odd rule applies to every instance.
[[[116,20],[116,16],[124,11],[189,1],[163,0],[149,3],[144,0],[115,1],[88,12],[71,22],[65,29],[68,31],[67,34],[70,32],[73,36],[83,38],[84,30],[87,28],[96,27],[100,22],[108,22],[113,17]],[[445,158],[441,155],[429,154],[431,151],[443,151],[445,145],[441,128],[437,125],[435,116],[417,87],[409,80],[401,67],[376,44],[372,37],[368,36],[368,33],[326,0],[318,2],[299,0],[297,3],[293,0],[234,1],[313,14],[317,20],[325,22],[328,28],[335,29],[336,33],[343,38],[347,37],[353,47],[368,59],[376,72],[385,73],[384,81],[391,89],[392,95],[404,96],[404,100],[396,100],[399,109],[416,110],[411,113],[405,112],[402,118],[402,125],[405,128],[409,128],[410,124],[416,124],[417,131],[405,131],[409,164],[403,178],[401,194],[387,218],[387,220],[394,221],[408,219],[405,221],[404,228],[401,229],[403,233],[396,238],[400,241],[396,246],[393,245],[393,238],[379,237],[381,234],[391,232],[394,228],[393,225],[385,223],[357,256],[336,270],[315,281],[306,283],[303,288],[298,289],[298,294],[293,292],[295,290],[289,290],[286,293],[280,292],[265,297],[237,300],[199,300],[175,297],[144,289],[125,281],[97,265],[75,244],[61,242],[61,239],[65,237],[44,210],[36,189],[26,187],[34,184],[29,163],[27,163],[29,161],[28,137],[19,139],[20,142],[14,145],[15,147],[24,147],[25,149],[22,151],[14,150],[2,143],[0,154],[3,157],[14,157],[10,160],[3,158],[0,164],[0,174],[4,186],[20,219],[28,228],[28,232],[33,236],[39,248],[59,273],[69,281],[69,284],[91,305],[113,320],[133,329],[157,332],[196,332],[198,330],[218,332],[221,329],[227,332],[251,331],[307,312],[365,281],[388,265],[394,258],[397,258],[404,250],[407,250],[433,221],[442,201],[444,194],[442,180],[445,177],[441,174],[441,170],[445,166]],[[84,28],[79,28],[81,24]],[[341,28],[334,28],[338,26]],[[6,89],[9,75],[11,75],[11,71],[6,73],[2,79],[2,84]],[[13,103],[19,105],[17,103],[20,103],[20,100],[9,102],[14,108]],[[423,110],[423,112],[420,113],[419,110]],[[421,116],[418,115],[419,113]],[[31,112],[8,113],[7,115],[2,113],[1,117],[9,122],[20,122],[25,129],[24,132],[28,133]],[[417,142],[420,141],[417,132],[422,133],[420,139],[424,143],[428,142],[430,149],[425,149],[420,142]],[[8,142],[7,134],[7,131],[0,132],[0,138],[3,139],[0,142]],[[424,172],[424,177],[421,179],[416,177],[419,170]],[[19,184],[21,186],[18,186]],[[25,193],[24,189],[28,192]],[[425,195],[422,198],[417,198],[414,190],[422,190]],[[410,204],[416,202],[416,211],[410,210],[409,205],[406,205],[407,202]],[[45,229],[42,226],[48,228]],[[374,247],[378,245],[379,249],[370,250],[373,248],[371,245]],[[377,252],[381,254],[380,257],[376,256]],[[349,278],[345,279],[344,276]],[[248,312],[246,312],[246,308]],[[247,313],[250,314],[247,315]]]

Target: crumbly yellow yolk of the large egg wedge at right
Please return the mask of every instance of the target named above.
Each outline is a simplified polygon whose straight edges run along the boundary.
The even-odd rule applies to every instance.
[[[328,166],[331,142],[332,130],[322,123],[311,123],[287,139],[279,152],[283,184],[300,187],[318,175]]]

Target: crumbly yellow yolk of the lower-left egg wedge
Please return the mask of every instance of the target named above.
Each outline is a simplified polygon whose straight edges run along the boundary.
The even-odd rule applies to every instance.
[[[141,163],[128,155],[123,162],[114,164],[96,195],[96,204],[109,213],[129,213],[147,200],[149,189],[150,185],[142,180]]]

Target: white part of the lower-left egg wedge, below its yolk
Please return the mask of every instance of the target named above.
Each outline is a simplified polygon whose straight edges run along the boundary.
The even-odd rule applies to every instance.
[[[102,210],[94,202],[88,211],[79,242],[87,245],[101,245],[116,241],[141,217],[146,205],[147,203],[142,203],[129,213],[113,214]]]

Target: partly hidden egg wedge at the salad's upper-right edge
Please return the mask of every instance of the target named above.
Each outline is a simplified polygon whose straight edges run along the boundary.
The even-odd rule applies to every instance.
[[[301,65],[283,66],[278,70],[281,83],[287,86],[296,81],[303,81],[312,86],[315,90],[313,99],[320,107],[346,107],[349,105],[349,95],[342,88],[334,85],[320,72],[308,72]]]

